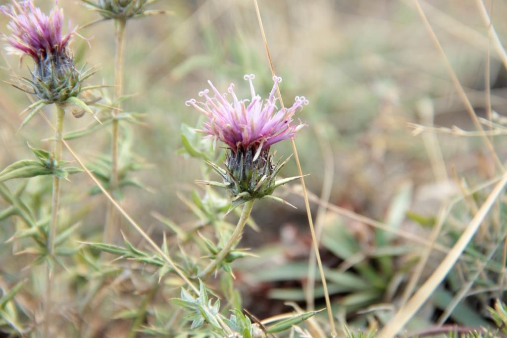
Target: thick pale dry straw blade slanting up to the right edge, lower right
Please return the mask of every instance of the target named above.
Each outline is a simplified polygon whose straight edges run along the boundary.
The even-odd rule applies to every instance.
[[[399,332],[405,324],[414,316],[419,308],[431,296],[433,291],[440,285],[442,280],[447,276],[452,269],[464,249],[472,240],[475,233],[479,229],[481,223],[486,218],[490,208],[495,203],[496,199],[503,192],[507,184],[507,173],[502,175],[501,180],[496,183],[493,191],[489,194],[488,198],[481,206],[479,211],[475,214],[474,218],[468,223],[468,226],[463,231],[463,234],[453,246],[451,251],[445,256],[444,260],[440,263],[438,268],[429,276],[419,290],[410,298],[409,302],[402,307],[396,315],[386,324],[386,326],[379,332],[378,336],[382,338],[391,338]]]

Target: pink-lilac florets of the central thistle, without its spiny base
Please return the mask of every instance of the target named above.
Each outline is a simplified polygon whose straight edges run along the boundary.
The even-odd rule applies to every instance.
[[[228,92],[232,95],[233,101],[229,102],[226,99],[227,94],[221,94],[211,81],[208,81],[214,96],[209,96],[209,90],[205,89],[199,93],[199,96],[206,99],[205,102],[197,102],[195,99],[186,102],[187,106],[194,106],[208,117],[203,129],[198,131],[207,134],[205,137],[226,143],[234,153],[247,150],[256,153],[259,146],[260,151],[264,151],[276,142],[294,137],[304,126],[302,123],[291,124],[298,108],[308,104],[304,96],[296,96],[292,107],[278,109],[275,91],[276,85],[282,79],[273,77],[273,88],[268,99],[263,102],[253,88],[254,78],[253,74],[244,76],[250,83],[251,100],[238,100],[234,93],[234,84],[231,84]]]

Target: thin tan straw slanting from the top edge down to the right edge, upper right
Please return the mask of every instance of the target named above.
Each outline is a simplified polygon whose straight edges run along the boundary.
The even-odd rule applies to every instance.
[[[470,118],[474,122],[476,129],[480,132],[484,132],[484,129],[482,128],[482,125],[479,122],[479,119],[477,118],[474,107],[472,106],[472,103],[470,103],[470,101],[468,100],[468,97],[466,96],[466,93],[465,93],[463,87],[461,86],[461,84],[458,80],[458,77],[456,76],[456,73],[452,69],[451,63],[449,62],[449,59],[447,58],[447,55],[445,54],[444,49],[442,48],[442,45],[440,44],[440,41],[439,41],[437,35],[435,34],[433,29],[431,28],[431,25],[429,24],[428,19],[426,18],[426,15],[424,14],[418,0],[414,0],[414,4],[416,6],[419,16],[421,17],[421,19],[424,23],[424,26],[426,27],[426,30],[428,31],[429,35],[431,36],[431,40],[433,41],[433,43],[435,44],[435,46],[439,50],[439,53],[441,54],[442,58],[444,59],[444,64],[447,69],[447,72],[449,73],[449,76],[450,76],[454,86],[456,87],[456,90],[458,91],[458,94],[461,97],[461,100],[463,101],[463,103],[466,107],[466,110],[468,111],[468,115],[470,116]],[[498,156],[496,155],[496,153],[494,151],[494,148],[493,148],[493,145],[491,144],[490,139],[486,135],[481,135],[481,137],[484,141],[484,144],[488,148],[488,151],[491,153],[491,156],[493,157],[498,168],[502,172],[505,171],[502,163],[500,162]]]

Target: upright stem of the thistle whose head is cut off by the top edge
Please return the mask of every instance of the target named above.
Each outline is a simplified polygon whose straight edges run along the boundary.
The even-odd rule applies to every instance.
[[[118,101],[123,95],[123,77],[124,77],[124,53],[125,53],[125,25],[127,21],[125,19],[115,20],[115,31],[116,31],[116,55],[115,55],[115,101]],[[120,108],[120,103],[117,103],[116,108]],[[118,177],[118,133],[119,125],[116,115],[118,114],[117,109],[111,111],[113,115],[113,129],[111,136],[111,178],[110,178],[110,191],[114,192],[118,188],[119,177]],[[107,206],[106,222],[104,227],[103,240],[108,243],[111,240],[111,236],[114,233],[114,227],[116,222],[116,209],[110,203]]]

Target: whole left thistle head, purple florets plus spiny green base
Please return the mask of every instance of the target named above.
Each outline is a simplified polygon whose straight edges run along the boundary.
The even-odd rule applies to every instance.
[[[78,96],[84,79],[68,49],[76,28],[62,35],[63,12],[58,9],[57,2],[49,16],[35,7],[32,0],[22,3],[13,0],[13,5],[1,10],[11,19],[7,41],[12,51],[33,59],[32,79],[24,79],[28,87],[21,89],[47,103],[64,102]]]

